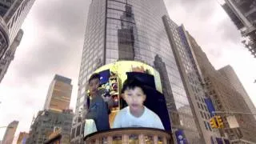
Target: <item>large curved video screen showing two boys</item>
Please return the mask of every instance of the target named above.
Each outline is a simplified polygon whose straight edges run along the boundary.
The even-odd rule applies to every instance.
[[[128,127],[170,131],[160,75],[152,66],[119,61],[98,68],[94,74],[100,75],[100,82],[97,93],[94,81],[88,82],[86,119],[94,120],[97,131]],[[104,116],[106,111],[108,118]],[[86,126],[90,127],[88,123]]]

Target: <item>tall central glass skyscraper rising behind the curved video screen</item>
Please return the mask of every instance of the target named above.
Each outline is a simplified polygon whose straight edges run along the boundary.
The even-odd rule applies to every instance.
[[[173,132],[183,130],[188,142],[200,143],[198,126],[162,21],[164,15],[168,13],[162,0],[91,1],[78,79],[72,129],[75,134],[71,143],[83,141],[86,82],[99,66],[118,60],[135,60],[158,67],[165,79],[163,94]]]

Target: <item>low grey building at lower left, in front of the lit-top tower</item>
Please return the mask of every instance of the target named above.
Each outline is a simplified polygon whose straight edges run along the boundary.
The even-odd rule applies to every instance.
[[[39,111],[38,115],[32,120],[26,144],[44,144],[56,130],[61,130],[61,143],[70,143],[73,115],[72,110],[63,110],[62,112],[54,110]]]

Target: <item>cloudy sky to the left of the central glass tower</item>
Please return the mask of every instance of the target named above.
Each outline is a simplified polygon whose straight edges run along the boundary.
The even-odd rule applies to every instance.
[[[22,26],[22,42],[0,84],[0,126],[18,120],[16,135],[29,132],[33,116],[43,108],[54,74],[72,79],[70,107],[74,108],[89,3],[83,0],[34,3]],[[4,133],[5,129],[1,129],[0,139]]]

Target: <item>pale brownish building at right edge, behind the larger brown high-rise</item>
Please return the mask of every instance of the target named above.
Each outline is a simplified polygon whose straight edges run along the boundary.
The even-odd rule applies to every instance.
[[[224,66],[221,69],[218,70],[223,76],[225,76],[228,81],[230,82],[230,85],[234,86],[236,90],[242,95],[242,97],[245,99],[247,106],[250,108],[251,114],[256,114],[256,108],[254,106],[254,103],[251,101],[249,95],[247,94],[245,88],[242,86],[242,83],[240,82],[238,75],[235,74],[234,69],[231,66]],[[256,116],[254,116],[256,119]]]

